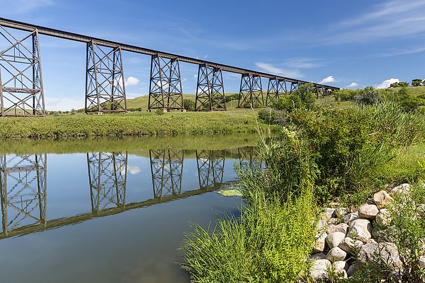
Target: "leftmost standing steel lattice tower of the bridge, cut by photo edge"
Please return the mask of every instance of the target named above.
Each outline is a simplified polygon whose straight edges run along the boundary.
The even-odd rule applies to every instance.
[[[45,116],[38,30],[17,39],[0,26],[0,41],[0,116]]]

